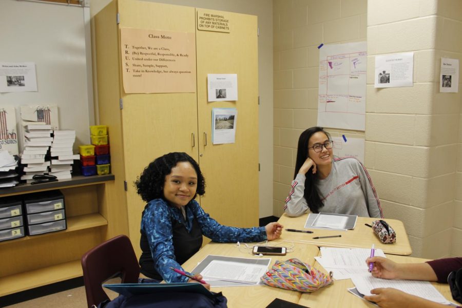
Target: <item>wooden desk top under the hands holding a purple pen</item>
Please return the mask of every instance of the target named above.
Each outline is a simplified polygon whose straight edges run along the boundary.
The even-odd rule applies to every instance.
[[[428,261],[428,259],[420,259],[406,256],[387,255],[387,258],[399,263],[419,263]],[[324,268],[315,263],[315,267],[325,273]],[[432,282],[436,289],[449,301],[454,302],[451,296],[451,291],[448,284]],[[303,293],[300,297],[299,304],[316,307],[376,307],[375,305],[351,294],[347,288],[354,287],[351,279],[336,280],[333,284],[320,288],[313,293]]]

